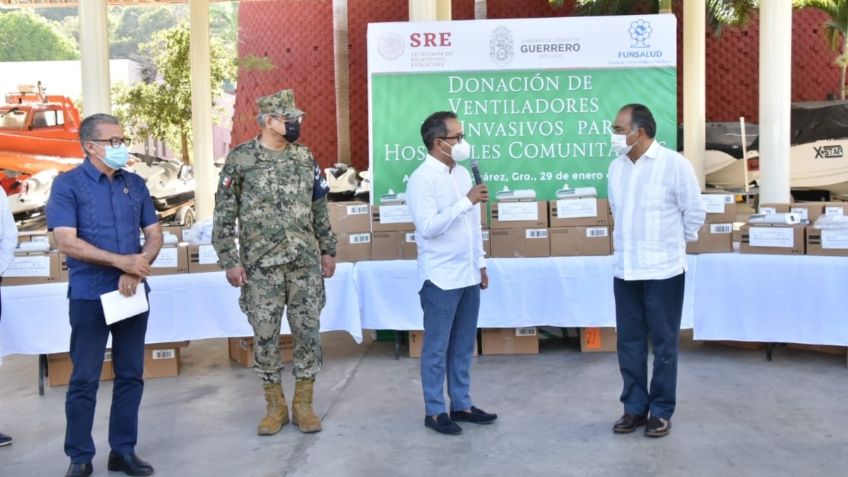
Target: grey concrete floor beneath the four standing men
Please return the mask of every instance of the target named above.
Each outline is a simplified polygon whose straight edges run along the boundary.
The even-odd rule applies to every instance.
[[[138,454],[158,476],[813,476],[846,475],[845,356],[689,344],[669,437],[614,435],[621,414],[615,354],[543,342],[536,356],[475,358],[472,395],[498,412],[461,436],[425,429],[418,360],[390,343],[324,335],[316,410],[324,431],[291,425],[258,437],[258,378],[230,364],[226,340],[191,343],[182,374],[148,380]],[[64,475],[65,387],[39,397],[36,359],[0,367],[0,476]],[[291,398],[293,378],[286,373]],[[111,383],[100,388],[94,475],[105,470]]]

